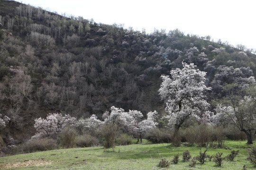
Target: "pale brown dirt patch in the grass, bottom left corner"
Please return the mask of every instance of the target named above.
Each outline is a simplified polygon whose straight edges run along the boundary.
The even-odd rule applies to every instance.
[[[7,164],[0,165],[0,169],[49,165],[52,162],[53,161],[45,161],[45,160],[42,160],[42,159],[40,159],[40,160],[26,160],[26,161],[23,161],[23,162],[7,163]]]

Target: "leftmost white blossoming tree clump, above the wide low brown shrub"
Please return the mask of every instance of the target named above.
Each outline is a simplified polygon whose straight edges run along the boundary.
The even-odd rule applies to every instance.
[[[37,129],[37,134],[32,138],[58,135],[64,127],[74,127],[75,123],[76,118],[70,115],[62,116],[61,113],[49,113],[46,119],[35,119],[34,127]]]

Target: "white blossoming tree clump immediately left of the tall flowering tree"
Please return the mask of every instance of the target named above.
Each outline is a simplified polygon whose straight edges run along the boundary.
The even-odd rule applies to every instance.
[[[157,125],[158,113],[156,111],[148,112],[147,119],[143,119],[143,114],[138,110],[125,112],[122,108],[116,108],[115,106],[112,106],[110,110],[111,112],[106,111],[102,115],[104,123],[116,124],[123,132],[137,136],[138,140],[141,141],[143,134]]]

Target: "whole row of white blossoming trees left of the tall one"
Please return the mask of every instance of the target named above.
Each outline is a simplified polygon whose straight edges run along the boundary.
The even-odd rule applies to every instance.
[[[46,119],[35,119],[34,127],[37,129],[37,134],[32,138],[41,137],[54,137],[59,135],[64,127],[75,127],[80,133],[87,131],[93,135],[97,135],[101,125],[113,123],[116,124],[119,129],[128,134],[136,136],[142,141],[143,134],[150,128],[154,128],[157,125],[156,111],[150,111],[147,113],[147,119],[143,119],[143,114],[138,110],[129,110],[125,112],[122,108],[111,107],[111,111],[106,111],[102,115],[101,121],[96,115],[86,119],[76,119],[70,115],[62,116],[61,113],[49,113]]]

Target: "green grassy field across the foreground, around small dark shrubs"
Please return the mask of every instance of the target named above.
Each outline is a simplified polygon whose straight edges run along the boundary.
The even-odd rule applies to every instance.
[[[197,156],[200,149],[204,151],[206,148],[145,143],[116,146],[114,151],[99,146],[6,156],[0,158],[0,170],[242,170],[243,165],[247,166],[247,170],[255,169],[247,160],[247,147],[250,145],[246,141],[225,141],[225,145],[240,152],[234,161],[224,160],[221,167],[207,161],[189,168],[190,162],[182,160],[183,151],[189,150],[192,156]],[[218,152],[227,156],[231,151],[218,148],[207,150],[209,155]],[[171,164],[169,168],[157,167],[161,158],[172,160],[177,153],[180,155],[178,164]]]

